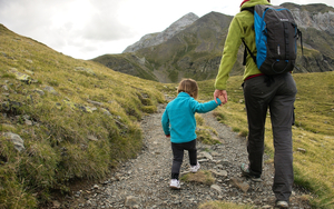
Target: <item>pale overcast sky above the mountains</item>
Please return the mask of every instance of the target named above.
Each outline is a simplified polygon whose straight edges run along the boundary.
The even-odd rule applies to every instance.
[[[161,32],[183,16],[235,16],[243,0],[0,0],[0,23],[76,59],[121,53],[143,36]],[[281,4],[286,0],[272,0]],[[294,0],[296,4],[333,0]]]

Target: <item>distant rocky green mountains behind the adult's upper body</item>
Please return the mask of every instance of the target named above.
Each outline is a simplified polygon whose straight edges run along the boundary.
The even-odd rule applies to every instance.
[[[295,72],[333,71],[334,8],[322,3],[307,6],[284,3],[283,6],[293,12],[303,31],[304,57],[302,50],[298,50]],[[176,30],[174,36],[164,39],[159,44],[137,46],[134,52],[106,54],[92,60],[117,71],[160,82],[177,82],[184,77],[196,80],[214,79],[232,19],[230,16],[210,12],[183,30]],[[148,41],[158,34],[160,33],[148,34],[143,39]],[[243,52],[240,46],[238,61],[232,74],[243,73]],[[125,64],[126,60],[127,64]]]

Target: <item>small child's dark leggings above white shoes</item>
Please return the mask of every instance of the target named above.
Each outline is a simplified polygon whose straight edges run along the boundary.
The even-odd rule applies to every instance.
[[[178,179],[179,170],[184,160],[184,151],[188,150],[190,166],[197,165],[197,149],[196,139],[185,143],[173,143],[173,166],[171,166],[171,179]]]

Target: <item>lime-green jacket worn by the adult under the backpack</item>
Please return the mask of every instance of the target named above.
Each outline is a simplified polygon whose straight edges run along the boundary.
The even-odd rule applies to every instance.
[[[242,11],[243,8],[248,8],[256,4],[271,3],[268,3],[267,0],[249,0],[245,2],[240,8],[240,12],[233,18],[229,24],[228,34],[225,40],[223,57],[215,82],[215,88],[218,90],[226,90],[226,82],[229,78],[230,70],[236,62],[242,39],[245,40],[250,51],[255,52],[256,56],[255,32],[253,29],[254,16],[249,11]],[[258,73],[261,73],[261,71],[253,61],[250,54],[247,53],[244,80],[252,74]]]

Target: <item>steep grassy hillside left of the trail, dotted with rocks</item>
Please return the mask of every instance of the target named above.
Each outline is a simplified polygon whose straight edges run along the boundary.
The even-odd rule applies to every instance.
[[[71,180],[104,178],[141,149],[138,121],[164,102],[158,82],[72,59],[2,24],[0,63],[0,208],[35,208]]]

